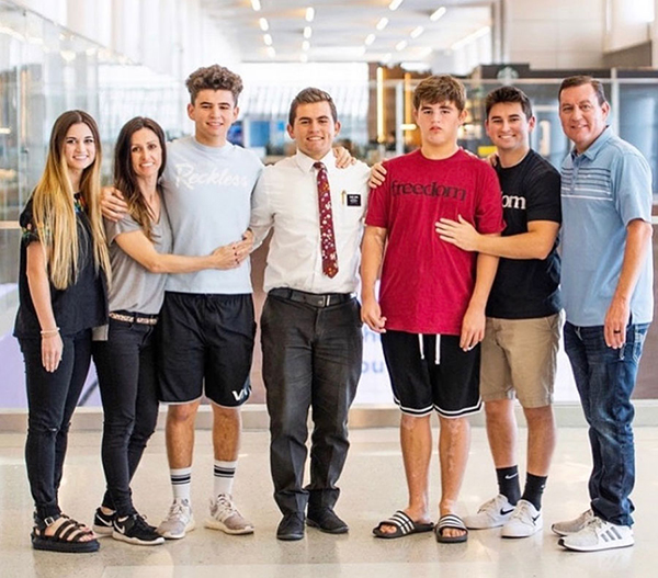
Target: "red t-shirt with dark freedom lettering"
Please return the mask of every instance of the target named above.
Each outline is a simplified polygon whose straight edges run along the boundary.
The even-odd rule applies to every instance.
[[[385,166],[386,181],[371,193],[365,223],[388,233],[379,286],[386,328],[458,336],[477,253],[442,241],[434,223],[462,215],[479,233],[502,231],[496,172],[461,149],[442,160],[416,150]]]

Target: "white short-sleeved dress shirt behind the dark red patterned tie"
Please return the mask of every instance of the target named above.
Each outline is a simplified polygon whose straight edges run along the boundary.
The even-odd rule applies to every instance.
[[[308,293],[352,293],[359,285],[361,238],[370,169],[356,162],[338,169],[333,151],[320,159],[331,188],[338,273],[322,274],[316,162],[297,151],[265,167],[251,201],[250,228],[260,245],[274,228],[264,290],[290,287]]]

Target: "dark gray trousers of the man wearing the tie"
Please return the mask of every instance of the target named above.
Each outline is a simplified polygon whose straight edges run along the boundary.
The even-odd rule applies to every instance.
[[[348,455],[348,411],[361,376],[356,299],[314,307],[269,296],[261,317],[274,499],[283,513],[332,508]],[[310,485],[303,487],[309,407]]]

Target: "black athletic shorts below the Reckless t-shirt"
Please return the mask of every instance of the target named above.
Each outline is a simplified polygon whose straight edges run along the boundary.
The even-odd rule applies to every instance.
[[[250,294],[167,292],[157,327],[161,401],[195,401],[204,389],[219,406],[247,401],[256,335]]]

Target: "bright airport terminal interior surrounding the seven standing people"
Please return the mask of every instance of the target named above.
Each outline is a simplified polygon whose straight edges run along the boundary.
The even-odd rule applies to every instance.
[[[275,539],[268,413],[259,337],[252,394],[235,498],[256,524],[248,536],[203,528],[212,492],[211,412],[197,418],[192,506],[197,528],[185,539],[141,547],[111,537],[99,553],[55,554],[30,543],[33,502],[24,461],[25,371],[12,335],[19,305],[19,215],[44,169],[53,123],[81,109],[98,122],[102,179],[112,179],[120,128],[136,115],[155,118],[168,140],[191,135],[186,77],[219,64],[242,78],[239,115],[228,139],[265,165],[294,154],[288,106],[299,90],[329,92],[341,131],[337,144],[372,166],[415,150],[412,92],[426,77],[453,75],[467,94],[458,144],[481,158],[495,151],[484,129],[485,97],[513,84],[536,117],[531,146],[559,169],[571,143],[564,135],[561,79],[591,75],[603,83],[609,124],[646,158],[658,214],[658,0],[0,0],[0,576],[2,577],[653,577],[658,554],[658,332],[649,329],[637,385],[635,546],[566,552],[551,524],[588,507],[588,429],[571,369],[560,348],[555,385],[558,440],[543,502],[544,529],[503,540],[499,530],[470,531],[464,544],[438,544],[433,533],[377,540],[372,529],[406,506],[399,411],[379,336],[363,329],[363,364],[350,413],[351,447],[337,511],[344,535],[307,529],[304,540]],[[654,228],[658,217],[653,217]],[[657,236],[654,235],[656,260]],[[257,319],[265,298],[266,245],[251,256]],[[656,262],[656,261],[655,261]],[[525,472],[525,422],[520,471]],[[133,484],[149,523],[171,499],[164,445],[166,410]],[[103,423],[95,370],[82,390],[69,438],[60,501],[91,523],[104,488]],[[438,423],[433,422],[434,437]],[[496,475],[484,416],[472,419],[472,444],[457,513],[474,513],[495,495]],[[436,452],[434,452],[435,454]],[[430,502],[438,518],[439,464]],[[522,474],[523,475],[523,474]]]

